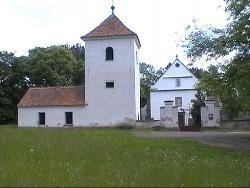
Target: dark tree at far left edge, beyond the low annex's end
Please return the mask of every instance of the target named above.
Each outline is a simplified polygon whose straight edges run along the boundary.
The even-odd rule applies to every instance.
[[[16,105],[27,90],[26,57],[0,52],[0,124],[15,122]]]

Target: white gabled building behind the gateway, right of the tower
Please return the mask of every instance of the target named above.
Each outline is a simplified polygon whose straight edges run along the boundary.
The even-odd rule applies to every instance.
[[[176,57],[165,73],[151,86],[150,105],[151,117],[160,120],[160,107],[164,101],[174,101],[179,110],[185,110],[188,116],[191,100],[195,99],[195,84],[198,79]]]

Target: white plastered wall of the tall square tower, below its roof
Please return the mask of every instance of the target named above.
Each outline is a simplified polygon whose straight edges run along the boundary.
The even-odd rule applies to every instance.
[[[135,38],[88,40],[85,46],[85,102],[92,121],[136,120]],[[107,47],[114,50],[113,61],[106,61]],[[105,88],[106,81],[115,88]]]

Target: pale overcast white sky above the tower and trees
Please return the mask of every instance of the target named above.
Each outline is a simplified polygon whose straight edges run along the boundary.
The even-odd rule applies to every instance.
[[[112,0],[0,0],[0,51],[28,55],[34,47],[84,45],[81,36],[111,14]],[[140,38],[140,61],[165,67],[178,55],[189,64],[181,40],[193,20],[223,28],[223,0],[114,0],[115,14]],[[204,59],[194,64],[206,67]]]

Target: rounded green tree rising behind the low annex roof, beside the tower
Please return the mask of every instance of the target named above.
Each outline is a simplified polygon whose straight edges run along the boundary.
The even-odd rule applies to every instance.
[[[28,59],[32,86],[82,84],[84,62],[65,47],[34,48],[29,51]]]

